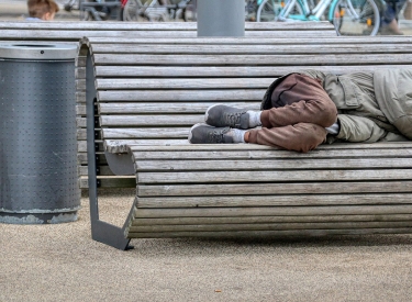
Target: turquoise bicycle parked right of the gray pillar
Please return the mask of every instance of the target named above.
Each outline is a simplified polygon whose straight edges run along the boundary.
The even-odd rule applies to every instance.
[[[337,35],[376,35],[380,25],[380,10],[385,5],[374,0],[263,0],[257,21],[321,21],[327,20]]]

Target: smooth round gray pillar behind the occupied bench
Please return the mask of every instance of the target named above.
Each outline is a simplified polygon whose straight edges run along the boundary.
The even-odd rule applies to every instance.
[[[197,0],[198,36],[244,36],[245,0]]]

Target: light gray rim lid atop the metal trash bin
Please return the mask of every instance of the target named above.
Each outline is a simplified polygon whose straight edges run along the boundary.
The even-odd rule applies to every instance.
[[[14,43],[0,44],[0,58],[15,59],[74,59],[77,56],[75,44]]]

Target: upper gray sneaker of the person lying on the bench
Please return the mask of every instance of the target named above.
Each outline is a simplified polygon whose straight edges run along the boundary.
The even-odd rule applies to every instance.
[[[208,108],[204,122],[215,127],[249,128],[249,114],[245,109],[215,104]]]

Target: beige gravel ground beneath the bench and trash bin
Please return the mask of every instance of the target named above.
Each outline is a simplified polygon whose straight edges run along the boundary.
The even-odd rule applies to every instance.
[[[101,220],[121,225],[133,191],[105,191]],[[412,235],[300,239],[90,238],[77,222],[0,224],[0,301],[397,301],[412,294]]]

